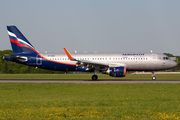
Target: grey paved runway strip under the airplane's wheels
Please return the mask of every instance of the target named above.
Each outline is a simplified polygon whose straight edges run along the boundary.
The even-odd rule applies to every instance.
[[[135,84],[135,83],[170,83],[179,84],[180,80],[0,80],[0,83],[82,83],[82,84]]]

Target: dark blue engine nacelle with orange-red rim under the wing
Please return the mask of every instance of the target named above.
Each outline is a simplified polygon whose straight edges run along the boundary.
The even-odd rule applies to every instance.
[[[126,75],[126,67],[109,67],[106,73],[112,77],[124,77]]]

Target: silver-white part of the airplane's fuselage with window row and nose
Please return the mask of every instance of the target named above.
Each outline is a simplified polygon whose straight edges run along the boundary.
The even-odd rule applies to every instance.
[[[52,61],[77,63],[69,60],[64,53],[43,53],[41,55]],[[77,60],[107,64],[109,67],[125,66],[127,70],[165,70],[176,65],[166,55],[159,53],[72,53],[72,56]]]

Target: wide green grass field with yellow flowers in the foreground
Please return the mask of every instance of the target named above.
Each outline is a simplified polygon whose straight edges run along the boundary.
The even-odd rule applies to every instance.
[[[0,84],[0,119],[180,119],[180,84]]]

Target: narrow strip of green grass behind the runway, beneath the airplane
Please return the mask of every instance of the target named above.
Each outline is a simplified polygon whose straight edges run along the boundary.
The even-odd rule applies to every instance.
[[[92,74],[0,74],[0,79],[80,79],[91,80]],[[127,74],[125,77],[111,77],[98,74],[98,80],[151,80],[151,74]],[[157,74],[156,80],[180,80],[180,74]]]

